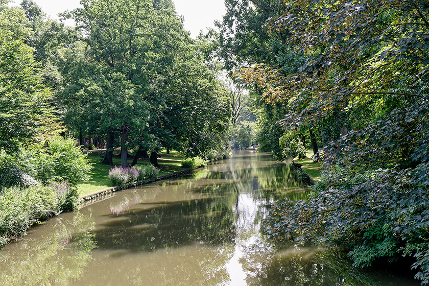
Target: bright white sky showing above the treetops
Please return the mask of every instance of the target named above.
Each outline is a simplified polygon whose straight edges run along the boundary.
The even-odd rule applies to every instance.
[[[19,5],[21,0],[15,0],[14,5]],[[73,10],[80,6],[80,0],[34,0],[42,10],[52,19],[58,19],[58,13],[65,10]],[[192,37],[196,37],[202,29],[214,27],[214,20],[221,20],[225,14],[224,0],[173,0],[176,11],[183,15],[184,27],[190,31]],[[73,25],[73,21],[66,22],[67,25]]]

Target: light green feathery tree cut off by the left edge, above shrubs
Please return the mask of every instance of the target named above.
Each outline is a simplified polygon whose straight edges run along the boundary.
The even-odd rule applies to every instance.
[[[13,37],[0,30],[0,148],[8,152],[48,131],[54,119],[33,50]]]

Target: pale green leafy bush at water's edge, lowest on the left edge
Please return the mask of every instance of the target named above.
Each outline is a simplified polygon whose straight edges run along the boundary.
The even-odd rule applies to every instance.
[[[33,224],[59,212],[51,187],[5,188],[0,196],[0,248]]]

